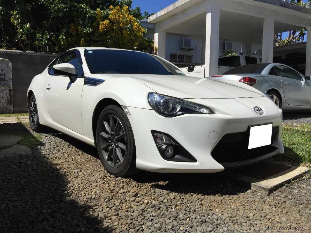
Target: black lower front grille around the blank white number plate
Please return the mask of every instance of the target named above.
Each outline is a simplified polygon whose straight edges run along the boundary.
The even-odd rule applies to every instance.
[[[279,126],[272,128],[271,144],[279,133]],[[275,150],[272,145],[248,149],[249,130],[224,135],[213,149],[211,155],[219,163],[238,162],[256,158]]]

